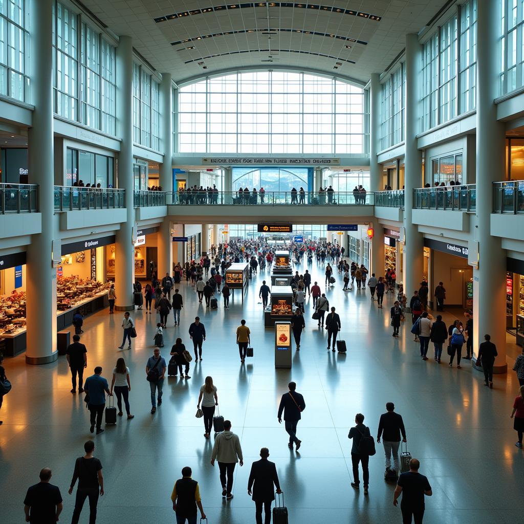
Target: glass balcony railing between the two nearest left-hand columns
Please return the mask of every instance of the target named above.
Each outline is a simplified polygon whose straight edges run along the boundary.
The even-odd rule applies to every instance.
[[[125,206],[125,189],[54,186],[54,211],[118,209]]]

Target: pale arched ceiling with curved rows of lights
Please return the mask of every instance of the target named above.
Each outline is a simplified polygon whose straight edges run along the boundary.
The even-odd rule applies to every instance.
[[[235,68],[293,67],[366,83],[446,0],[82,0],[175,82]]]

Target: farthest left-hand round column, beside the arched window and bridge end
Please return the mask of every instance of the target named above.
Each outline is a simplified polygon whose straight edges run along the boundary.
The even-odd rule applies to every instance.
[[[164,150],[163,162],[160,165],[159,177],[163,190],[171,193],[173,191],[173,96],[171,88],[171,75],[162,73],[160,94],[162,103],[162,144]],[[168,200],[169,202],[169,200]],[[171,241],[171,222],[164,217],[160,223],[158,237],[158,276],[171,274],[173,268],[173,249]]]

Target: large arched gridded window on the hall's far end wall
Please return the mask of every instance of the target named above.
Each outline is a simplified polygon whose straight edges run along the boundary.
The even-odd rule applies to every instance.
[[[286,71],[233,73],[183,86],[181,153],[356,154],[365,151],[364,90]]]

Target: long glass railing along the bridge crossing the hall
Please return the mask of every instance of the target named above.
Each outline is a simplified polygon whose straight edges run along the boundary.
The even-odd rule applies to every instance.
[[[373,192],[173,191],[167,195],[169,205],[373,205],[374,201]]]

